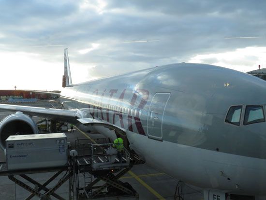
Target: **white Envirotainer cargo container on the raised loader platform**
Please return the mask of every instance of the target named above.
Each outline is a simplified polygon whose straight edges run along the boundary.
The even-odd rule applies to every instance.
[[[64,133],[9,136],[5,144],[8,170],[67,164],[67,137]]]

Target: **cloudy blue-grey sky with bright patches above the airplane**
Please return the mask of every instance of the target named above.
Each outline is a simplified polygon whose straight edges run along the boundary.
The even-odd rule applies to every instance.
[[[265,0],[0,0],[0,89],[59,90],[177,62],[266,67]]]

